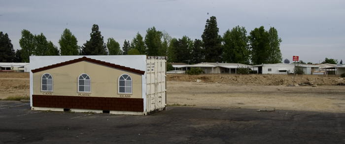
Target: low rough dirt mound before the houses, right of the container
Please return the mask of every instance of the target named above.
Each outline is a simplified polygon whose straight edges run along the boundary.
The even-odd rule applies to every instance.
[[[293,75],[183,75],[168,74],[167,81],[196,82],[203,83],[224,83],[224,84],[254,84],[264,86],[292,85]],[[343,78],[298,75],[295,77],[295,84],[310,85],[337,85],[345,83]]]

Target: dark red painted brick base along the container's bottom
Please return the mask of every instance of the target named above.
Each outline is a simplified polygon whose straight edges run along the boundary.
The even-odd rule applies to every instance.
[[[143,112],[142,98],[33,95],[34,107]]]

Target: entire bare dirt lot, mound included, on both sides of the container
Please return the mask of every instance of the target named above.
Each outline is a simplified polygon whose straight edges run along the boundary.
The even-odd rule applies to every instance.
[[[345,83],[339,77],[287,75],[168,75],[169,105],[345,113]],[[200,83],[196,83],[200,80]],[[282,82],[282,83],[280,83]],[[273,85],[273,86],[270,86]],[[0,73],[0,98],[29,95],[29,73]]]

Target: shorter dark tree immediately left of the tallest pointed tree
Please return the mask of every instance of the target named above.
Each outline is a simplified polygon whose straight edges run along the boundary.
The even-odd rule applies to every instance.
[[[200,63],[204,60],[204,48],[203,48],[203,41],[200,39],[195,39],[193,44],[193,49],[191,53],[191,62],[192,63]]]

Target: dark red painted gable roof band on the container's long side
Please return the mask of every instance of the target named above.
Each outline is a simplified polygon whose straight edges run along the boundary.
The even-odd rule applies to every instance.
[[[43,71],[43,70],[47,70],[47,69],[51,69],[51,68],[56,68],[56,67],[60,67],[60,66],[65,66],[65,65],[76,63],[76,62],[80,62],[80,61],[88,61],[88,62],[92,62],[92,63],[97,63],[97,64],[100,64],[100,65],[109,66],[109,67],[112,67],[112,68],[117,68],[117,69],[129,71],[129,72],[133,72],[133,73],[137,73],[137,74],[141,74],[141,75],[143,75],[145,73],[145,71],[141,71],[141,70],[138,70],[138,69],[134,69],[134,68],[130,68],[130,67],[125,67],[125,66],[121,66],[121,65],[117,65],[117,64],[113,64],[113,63],[97,60],[97,59],[86,58],[86,57],[77,58],[77,59],[73,59],[73,60],[69,60],[69,61],[65,61],[65,62],[53,64],[53,65],[48,65],[48,66],[45,66],[45,67],[33,69],[31,71],[33,73],[36,73],[36,72],[40,72],[40,71]]]

